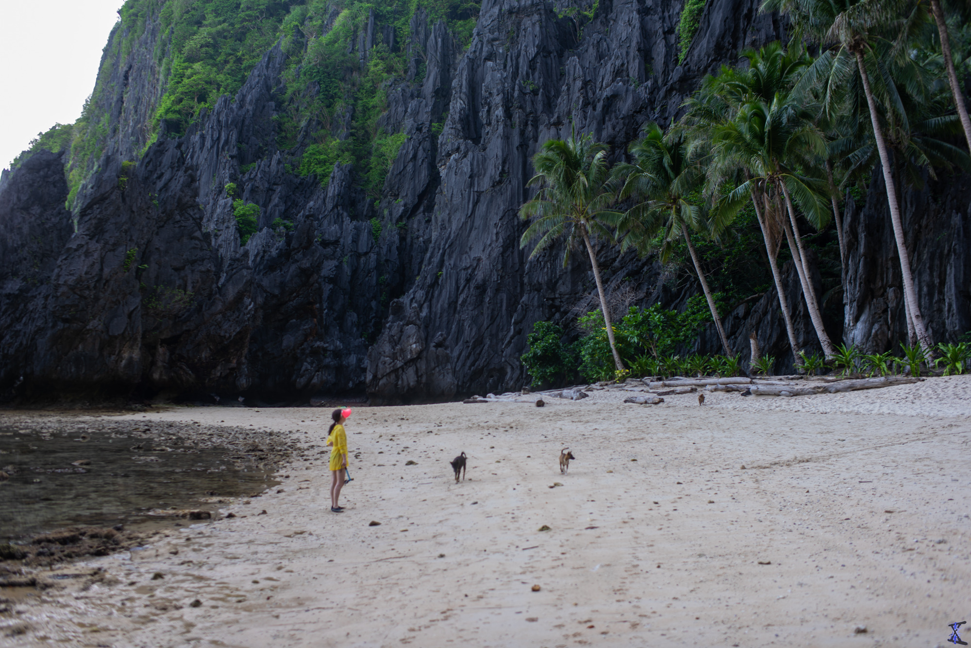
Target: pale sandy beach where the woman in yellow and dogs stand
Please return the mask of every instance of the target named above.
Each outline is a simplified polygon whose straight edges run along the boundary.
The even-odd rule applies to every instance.
[[[623,396],[355,408],[340,514],[329,409],[115,416],[299,449],[279,486],[221,519],[8,598],[0,644],[943,646],[971,616],[971,376],[705,405]]]

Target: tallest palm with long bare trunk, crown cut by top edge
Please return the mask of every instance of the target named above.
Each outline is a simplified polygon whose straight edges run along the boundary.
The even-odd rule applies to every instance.
[[[897,189],[893,181],[892,162],[890,160],[887,138],[884,127],[880,122],[880,110],[874,95],[873,86],[868,73],[867,58],[872,59],[871,67],[878,67],[870,40],[871,32],[885,28],[887,24],[901,15],[901,0],[765,0],[763,11],[779,11],[789,15],[796,27],[794,38],[809,37],[826,50],[820,54],[818,64],[814,69],[829,66],[832,72],[839,72],[846,68],[847,54],[853,57],[856,71],[863,85],[873,136],[880,154],[880,163],[884,173],[884,184],[887,190],[887,204],[890,211],[890,221],[893,225],[893,238],[897,245],[897,255],[900,258],[900,271],[903,275],[904,297],[910,319],[921,348],[928,357],[933,353],[934,345],[927,335],[923,323],[921,308],[918,304],[917,290],[914,287],[914,275],[910,267],[910,253],[904,241],[903,221],[900,214],[900,202],[897,199]],[[828,82],[827,85],[834,85]],[[892,82],[887,83],[887,91],[895,95]],[[891,96],[891,101],[895,96]]]

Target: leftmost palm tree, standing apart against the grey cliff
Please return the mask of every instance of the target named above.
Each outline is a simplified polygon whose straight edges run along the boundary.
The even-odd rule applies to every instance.
[[[539,192],[519,208],[519,215],[534,220],[522,233],[519,246],[525,247],[539,239],[529,255],[533,258],[553,242],[566,238],[563,253],[563,266],[566,267],[571,249],[581,241],[584,243],[600,296],[614,364],[619,372],[623,371],[600,278],[600,265],[590,243],[591,238],[614,241],[612,228],[622,216],[619,211],[609,209],[617,199],[617,191],[607,162],[607,146],[594,143],[588,135],[577,137],[574,134],[566,141],[550,140],[533,156],[533,168],[536,175],[528,185],[539,186]]]

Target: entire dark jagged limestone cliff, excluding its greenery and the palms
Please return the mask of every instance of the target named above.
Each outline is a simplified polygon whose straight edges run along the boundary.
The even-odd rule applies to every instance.
[[[408,79],[388,88],[382,117],[387,132],[401,129],[408,139],[377,204],[350,166],[337,165],[326,186],[287,171],[287,160],[312,142],[313,124],[295,149],[276,149],[273,117],[284,100],[279,48],[236,97],[221,98],[183,137],[170,139],[163,128],[119,183],[121,160],[141,146],[139,129],[161,92],[151,86],[151,51],[167,37],[148,29],[111,73],[121,88],[109,113],[117,141],[79,193],[77,234],[61,207],[67,187],[60,158],[38,153],[0,181],[0,390],[6,398],[141,390],[266,402],[366,392],[388,403],[519,387],[527,381],[519,356],[533,323],[569,326],[578,311],[596,308],[582,250],[564,267],[562,249],[530,259],[519,248],[525,224],[517,210],[529,198],[530,156],[573,128],[619,154],[645,122],[667,125],[705,73],[732,64],[742,47],[783,35],[778,19],[757,14],[757,6],[711,0],[681,66],[678,3],[601,0],[581,36],[551,3],[486,1],[464,52],[444,23],[429,24],[418,12],[410,40],[396,45],[408,52]],[[395,38],[371,22],[354,42],[362,60],[369,44]],[[335,116],[335,135],[351,117]],[[261,229],[246,245],[227,182],[261,208]],[[848,237],[858,232],[853,253],[866,255],[852,262],[865,270],[851,277],[853,312],[878,308],[881,295],[899,285],[874,191],[873,208],[847,215]],[[948,194],[952,215],[942,209],[933,233],[966,229],[968,194],[961,191]],[[940,194],[921,195],[909,199],[911,218],[927,196]],[[292,222],[292,231],[275,229],[277,218]],[[967,321],[964,231],[954,234],[952,261],[942,257],[919,276],[921,285],[940,277],[954,284],[943,311],[933,308],[935,297],[924,298],[935,335],[952,335]],[[931,234],[915,241],[924,245],[918,258],[930,257]],[[42,243],[31,247],[39,235]],[[635,303],[679,308],[697,292],[671,288],[653,257],[607,244],[597,254],[608,290],[633,285]],[[32,278],[25,268],[34,269]],[[811,351],[815,333],[798,280],[791,267],[785,275],[796,335]],[[870,336],[869,322],[880,316],[854,317],[848,314],[848,340]],[[834,338],[838,328],[830,329]],[[777,357],[776,370],[790,370],[774,290],[735,308],[725,329],[743,358],[755,331],[763,353]],[[900,335],[897,325],[887,330],[887,339]],[[720,352],[714,326],[696,349]]]

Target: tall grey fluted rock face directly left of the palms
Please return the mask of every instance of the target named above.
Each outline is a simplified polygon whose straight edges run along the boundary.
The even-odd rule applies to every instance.
[[[582,251],[563,269],[562,250],[529,260],[519,249],[517,210],[530,197],[531,155],[571,128],[622,149],[646,121],[668,123],[705,73],[781,35],[756,10],[748,0],[710,3],[678,66],[677,5],[601,3],[578,41],[576,23],[547,2],[483,3],[438,140],[440,184],[423,268],[392,303],[368,355],[373,399],[485,393],[528,381],[519,356],[533,322],[566,322],[593,289]],[[652,260],[599,253],[614,285],[625,277],[653,285],[661,275]]]

